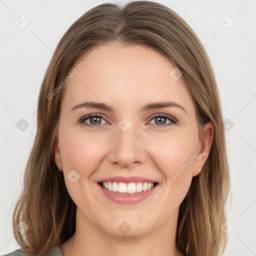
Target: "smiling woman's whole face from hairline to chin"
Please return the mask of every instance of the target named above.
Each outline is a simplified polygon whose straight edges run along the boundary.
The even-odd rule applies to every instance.
[[[118,236],[176,224],[209,148],[199,141],[193,101],[174,67],[146,46],[108,43],[71,69],[54,152],[79,223]]]

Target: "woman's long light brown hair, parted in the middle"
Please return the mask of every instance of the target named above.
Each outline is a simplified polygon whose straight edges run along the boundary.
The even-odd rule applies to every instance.
[[[219,92],[208,56],[188,24],[168,7],[151,1],[124,6],[103,3],[86,11],[60,39],[45,72],[37,106],[37,131],[25,167],[23,190],[13,212],[13,233],[21,248],[42,255],[75,232],[76,205],[58,171],[53,142],[58,129],[65,87],[48,99],[86,50],[117,41],[144,44],[166,55],[182,72],[193,99],[198,134],[210,121],[214,127],[208,158],[180,204],[176,245],[183,255],[220,255],[227,237],[220,226],[226,220],[229,169]],[[29,229],[15,228],[24,221]]]

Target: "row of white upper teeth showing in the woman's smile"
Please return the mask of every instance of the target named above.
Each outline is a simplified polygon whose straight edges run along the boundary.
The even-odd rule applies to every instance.
[[[151,182],[131,182],[131,183],[123,183],[123,182],[102,182],[102,187],[107,189],[108,191],[119,192],[119,193],[130,193],[134,194],[135,192],[141,192],[149,190],[153,187],[153,183]]]

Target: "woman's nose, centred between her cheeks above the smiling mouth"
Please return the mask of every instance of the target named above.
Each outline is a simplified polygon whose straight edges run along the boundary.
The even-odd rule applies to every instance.
[[[125,130],[120,123],[116,129],[116,134],[110,142],[108,160],[109,162],[120,165],[121,167],[129,167],[132,165],[138,165],[145,161],[147,152],[146,145],[143,143],[143,139],[139,135],[139,131],[135,124]]]

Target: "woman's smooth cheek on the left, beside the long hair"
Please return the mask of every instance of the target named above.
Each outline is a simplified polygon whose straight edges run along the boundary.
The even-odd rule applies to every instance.
[[[97,152],[102,145],[97,145],[99,141],[95,142],[88,134],[71,129],[60,130],[59,141],[67,191],[76,205],[88,208],[95,200],[89,192],[90,175],[97,168]]]

